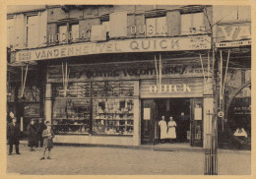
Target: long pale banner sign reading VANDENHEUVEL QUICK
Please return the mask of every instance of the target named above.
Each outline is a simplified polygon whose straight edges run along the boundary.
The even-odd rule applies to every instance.
[[[65,44],[40,49],[21,50],[15,52],[16,55],[12,55],[12,57],[15,58],[15,61],[26,62],[91,54],[202,50],[210,48],[211,37],[208,35],[198,35]]]

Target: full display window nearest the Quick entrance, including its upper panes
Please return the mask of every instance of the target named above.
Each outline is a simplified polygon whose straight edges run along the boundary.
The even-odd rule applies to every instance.
[[[95,82],[93,92],[94,133],[133,135],[133,82]]]

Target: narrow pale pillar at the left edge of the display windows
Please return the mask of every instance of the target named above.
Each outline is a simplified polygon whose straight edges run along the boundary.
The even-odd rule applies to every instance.
[[[45,88],[45,120],[51,123],[52,98],[51,84],[46,84]]]

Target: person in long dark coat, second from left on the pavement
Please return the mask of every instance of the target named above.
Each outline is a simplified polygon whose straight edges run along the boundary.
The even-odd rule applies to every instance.
[[[36,147],[36,145],[37,145],[36,144],[37,143],[37,133],[36,133],[36,127],[35,127],[34,122],[35,122],[35,119],[33,118],[27,128],[28,137],[29,137],[28,146],[31,148],[31,151],[34,151],[34,149],[32,149],[32,148]]]

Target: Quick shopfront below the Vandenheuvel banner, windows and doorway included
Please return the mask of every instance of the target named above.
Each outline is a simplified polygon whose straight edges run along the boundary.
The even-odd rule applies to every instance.
[[[161,75],[159,88],[155,60],[48,65],[45,108],[55,143],[157,144],[164,114],[177,123],[177,142],[203,147],[205,88],[199,57],[173,61],[165,55]]]

